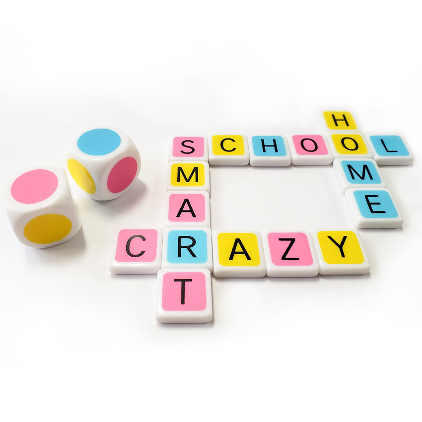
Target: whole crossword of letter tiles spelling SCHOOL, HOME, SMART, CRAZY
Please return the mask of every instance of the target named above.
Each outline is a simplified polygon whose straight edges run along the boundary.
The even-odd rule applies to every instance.
[[[311,234],[210,228],[210,164],[332,164],[356,227],[402,226],[378,167],[413,162],[402,138],[363,135],[347,111],[325,111],[321,121],[326,134],[172,138],[164,228],[121,230],[110,271],[157,274],[156,319],[162,323],[212,320],[211,273],[227,278],[368,273],[360,237],[350,229]]]

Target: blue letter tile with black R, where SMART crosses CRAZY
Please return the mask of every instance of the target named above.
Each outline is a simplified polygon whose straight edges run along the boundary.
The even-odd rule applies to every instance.
[[[212,272],[209,227],[165,227],[162,268],[206,268]]]

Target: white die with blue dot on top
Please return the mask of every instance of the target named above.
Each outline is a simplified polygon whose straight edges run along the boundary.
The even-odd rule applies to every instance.
[[[73,180],[99,201],[123,195],[141,170],[138,148],[118,129],[84,132],[70,142],[66,158]]]

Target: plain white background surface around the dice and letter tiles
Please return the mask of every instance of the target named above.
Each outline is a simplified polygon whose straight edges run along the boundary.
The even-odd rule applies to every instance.
[[[1,7],[0,179],[116,126],[138,183],[35,250],[3,209],[2,421],[420,421],[421,25],[417,2],[14,1]],[[115,232],[160,227],[170,135],[320,132],[350,110],[399,134],[381,172],[402,229],[359,230],[371,272],[212,281],[214,320],[159,325],[155,277],[112,277]],[[213,229],[352,228],[331,166],[211,168]]]

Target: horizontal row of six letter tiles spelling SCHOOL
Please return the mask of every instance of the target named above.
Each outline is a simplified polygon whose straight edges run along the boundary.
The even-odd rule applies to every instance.
[[[400,136],[359,133],[176,136],[171,138],[168,152],[169,161],[206,161],[216,166],[329,165],[333,159],[345,157],[374,158],[380,165],[413,162],[413,156]]]

